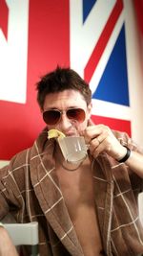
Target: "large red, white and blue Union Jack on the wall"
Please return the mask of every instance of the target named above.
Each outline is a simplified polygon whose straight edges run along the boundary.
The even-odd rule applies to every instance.
[[[0,0],[0,159],[44,127],[34,84],[57,64],[92,89],[92,119],[131,135],[122,0]]]

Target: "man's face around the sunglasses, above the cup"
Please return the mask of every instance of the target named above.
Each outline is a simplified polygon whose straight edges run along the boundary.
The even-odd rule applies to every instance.
[[[81,108],[85,111],[83,122],[68,118],[66,110],[71,108]],[[67,136],[74,136],[79,135],[87,127],[88,120],[91,117],[92,104],[87,106],[82,94],[71,89],[48,94],[45,98],[43,109],[43,112],[51,109],[63,111],[60,120],[55,125],[47,125],[48,129],[56,128]]]

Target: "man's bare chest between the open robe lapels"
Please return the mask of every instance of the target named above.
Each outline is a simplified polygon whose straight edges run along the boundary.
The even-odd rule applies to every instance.
[[[95,213],[92,175],[87,169],[85,172],[82,175],[62,176],[60,186],[84,255],[99,256],[102,255],[102,244]]]

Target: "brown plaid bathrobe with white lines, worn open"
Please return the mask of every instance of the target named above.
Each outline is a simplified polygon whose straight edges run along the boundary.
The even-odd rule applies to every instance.
[[[126,133],[113,132],[120,143],[140,151]],[[54,143],[47,139],[45,128],[31,149],[16,154],[0,170],[0,219],[10,212],[18,222],[38,221],[41,256],[83,256],[56,176]],[[92,171],[105,252],[108,256],[141,255],[143,228],[137,196],[142,179],[106,153],[92,159]]]

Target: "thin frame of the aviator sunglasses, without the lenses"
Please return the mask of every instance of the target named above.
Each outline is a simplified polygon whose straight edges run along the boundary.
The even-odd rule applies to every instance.
[[[78,118],[77,118],[77,119],[76,119],[76,118],[69,118],[69,116],[68,116],[68,111],[69,111],[69,110],[82,110],[81,112],[82,112],[82,114],[84,115],[84,118],[82,118],[81,121],[79,121]],[[51,112],[51,111],[55,111],[55,112],[58,112],[58,113],[60,114],[59,119],[57,120],[57,122],[55,122],[55,123],[53,123],[53,124],[48,123],[48,122],[46,121],[46,118],[44,117],[44,115],[45,115],[46,112]],[[49,125],[49,126],[55,126],[55,125],[57,125],[57,124],[60,122],[61,116],[62,116],[62,114],[63,114],[64,112],[66,113],[66,116],[68,117],[69,120],[75,120],[75,121],[77,121],[78,123],[83,123],[84,120],[85,120],[85,118],[86,118],[86,112],[85,112],[85,110],[84,110],[83,108],[80,108],[80,107],[75,107],[75,108],[68,108],[68,109],[66,109],[66,110],[59,110],[59,109],[48,109],[48,110],[45,110],[45,111],[43,112],[43,120],[44,120],[44,122],[45,122],[47,125]]]

